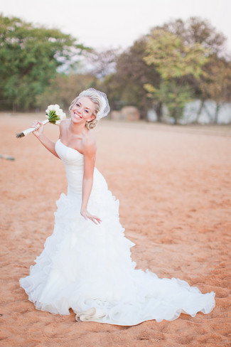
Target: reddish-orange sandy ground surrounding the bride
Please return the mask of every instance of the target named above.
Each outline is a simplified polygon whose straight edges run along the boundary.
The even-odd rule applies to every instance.
[[[63,164],[38,140],[15,133],[41,115],[1,114],[1,346],[230,346],[231,132],[103,121],[97,168],[120,201],[137,268],[216,293],[215,309],[194,318],[123,327],[37,311],[18,279],[40,255],[60,193]],[[45,134],[55,141],[58,127]]]

